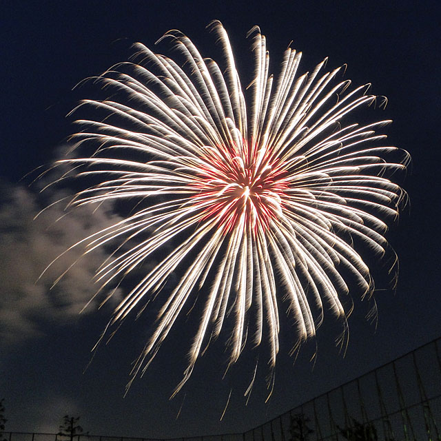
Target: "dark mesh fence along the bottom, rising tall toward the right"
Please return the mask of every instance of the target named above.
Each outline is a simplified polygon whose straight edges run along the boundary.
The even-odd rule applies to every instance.
[[[441,338],[245,433],[185,441],[441,441]],[[3,432],[8,441],[68,441]],[[76,435],[74,441],[158,441]],[[170,440],[172,441],[172,440]]]

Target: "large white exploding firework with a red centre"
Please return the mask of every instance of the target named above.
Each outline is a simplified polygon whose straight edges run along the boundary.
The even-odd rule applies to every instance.
[[[176,30],[163,38],[181,62],[136,44],[130,63],[96,79],[111,98],[79,106],[103,116],[78,121],[83,131],[74,136],[76,150],[92,145],[92,154],[59,161],[88,183],[71,206],[136,201],[123,220],[81,242],[86,252],[119,242],[96,273],[102,287],[154,261],[116,307],[110,326],[143,311],[178,275],[134,376],[156,356],[196,293],[203,297],[176,390],[227,320],[229,365],[247,339],[267,342],[275,365],[281,308],[294,319],[293,344],[316,334],[326,310],[346,327],[349,291],[373,293],[360,250],[384,256],[389,249],[386,222],[398,216],[403,197],[390,177],[407,163],[405,153],[384,146],[386,136],[376,134],[390,121],[343,123],[376,103],[369,85],[351,90],[349,80],[336,81],[343,68],[323,73],[326,60],[298,75],[301,54],[291,48],[278,76],[269,75],[265,37],[255,27],[248,34],[254,76],[243,89],[225,29],[214,21],[209,30],[220,45],[222,69]]]

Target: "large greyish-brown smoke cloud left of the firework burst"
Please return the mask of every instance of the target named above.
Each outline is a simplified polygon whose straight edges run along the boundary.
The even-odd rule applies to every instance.
[[[30,189],[1,185],[0,190],[0,343],[11,344],[41,334],[45,320],[70,322],[78,317],[99,288],[92,280],[94,271],[109,256],[103,248],[83,257],[82,247],[63,252],[119,217],[104,207],[81,207],[65,216],[65,204],[58,203],[34,220],[41,206]],[[50,198],[62,196],[52,192]],[[52,287],[72,262],[75,265]],[[85,312],[94,309],[92,305]]]

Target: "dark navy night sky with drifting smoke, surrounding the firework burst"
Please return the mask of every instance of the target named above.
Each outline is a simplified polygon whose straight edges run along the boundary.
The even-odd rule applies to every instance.
[[[54,433],[68,413],[81,416],[83,429],[96,435],[243,432],[441,336],[438,1],[22,1],[2,2],[0,16],[0,398],[6,431]],[[90,362],[110,308],[96,312],[92,304],[81,316],[79,310],[94,294],[90,279],[103,255],[82,260],[50,291],[76,257],[73,252],[35,283],[52,258],[119,214],[84,210],[54,225],[63,212],[53,207],[32,220],[57,195],[43,201],[41,183],[29,186],[30,178],[23,176],[61,154],[75,131],[66,114],[88,97],[81,88],[72,91],[76,83],[125,61],[136,41],[153,48],[173,28],[209,57],[214,37],[205,26],[212,19],[229,32],[239,70],[247,71],[248,58],[241,58],[249,47],[246,33],[259,25],[274,73],[292,40],[291,47],[304,53],[301,72],[329,57],[329,69],[347,63],[346,78],[354,85],[370,82],[374,94],[387,96],[386,109],[367,110],[369,118],[393,119],[386,130],[389,143],[413,158],[402,183],[410,203],[388,234],[400,257],[398,288],[395,295],[376,293],[377,326],[366,320],[366,305],[354,299],[345,357],[336,348],[339,329],[330,317],[294,366],[286,355],[292,340],[285,331],[267,404],[263,369],[245,406],[243,392],[254,367],[246,353],[222,379],[222,345],[207,351],[187,387],[169,400],[185,367],[190,341],[185,330],[191,323],[182,324],[123,398],[131,364],[147,338],[148,316],[127,320]],[[162,45],[158,52],[166,49]],[[314,365],[309,358],[316,345]]]

